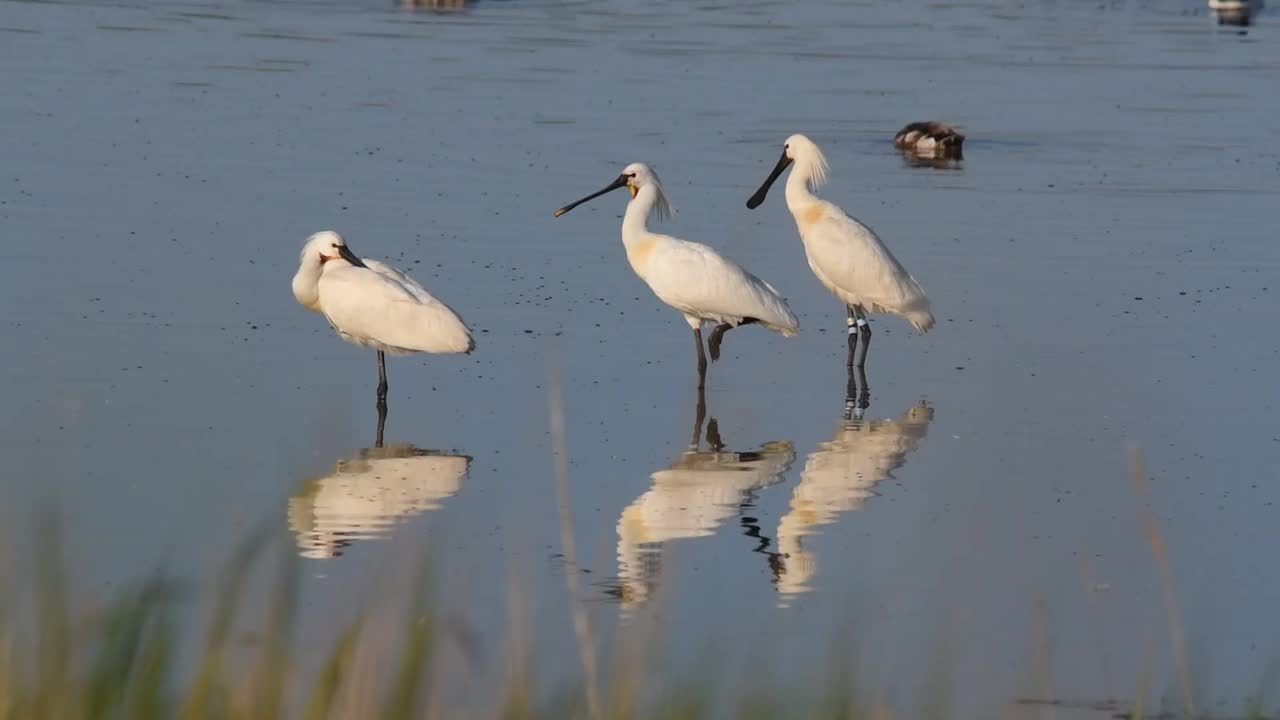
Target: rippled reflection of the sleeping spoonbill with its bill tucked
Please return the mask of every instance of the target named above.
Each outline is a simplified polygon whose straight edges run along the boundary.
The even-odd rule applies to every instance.
[[[302,557],[342,555],[352,542],[387,537],[401,521],[440,507],[462,489],[471,457],[408,443],[384,443],[387,410],[378,411],[374,447],[338,460],[289,498],[288,520]]]

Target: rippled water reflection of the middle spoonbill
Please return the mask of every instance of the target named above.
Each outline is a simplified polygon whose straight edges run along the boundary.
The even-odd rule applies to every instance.
[[[703,421],[707,397],[698,391],[689,450],[652,475],[653,486],[618,519],[618,579],[611,594],[623,609],[641,606],[657,589],[668,541],[714,534],[721,525],[754,505],[755,493],[782,480],[795,462],[790,441],[767,442],[756,451],[724,448],[716,418]]]

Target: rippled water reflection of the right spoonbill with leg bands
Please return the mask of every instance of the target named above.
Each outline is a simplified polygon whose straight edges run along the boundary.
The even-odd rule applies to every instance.
[[[841,512],[861,510],[876,497],[876,486],[892,478],[920,446],[933,420],[933,409],[924,401],[896,420],[864,420],[869,406],[867,374],[850,369],[840,428],[805,460],[791,506],[778,521],[778,553],[771,566],[782,605],[813,589],[818,559],[805,548],[805,536],[835,523]]]

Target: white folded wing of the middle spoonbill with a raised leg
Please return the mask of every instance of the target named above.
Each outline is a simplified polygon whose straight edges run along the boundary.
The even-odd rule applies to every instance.
[[[755,318],[792,336],[800,328],[787,301],[769,283],[710,247],[659,236],[645,282],[668,305],[691,315],[737,325]]]

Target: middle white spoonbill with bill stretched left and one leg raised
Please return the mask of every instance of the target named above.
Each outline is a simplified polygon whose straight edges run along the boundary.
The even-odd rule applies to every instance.
[[[694,328],[698,387],[707,382],[703,323],[717,323],[707,342],[712,361],[719,359],[724,333],[739,325],[759,323],[783,336],[796,334],[800,323],[773,286],[705,245],[649,232],[649,219],[667,218],[671,205],[658,176],[644,163],[627,165],[604,190],[556,210],[556,217],[620,187],[631,191],[631,201],[622,217],[622,246],[626,247],[627,261],[658,300],[684,314],[689,327]]]

